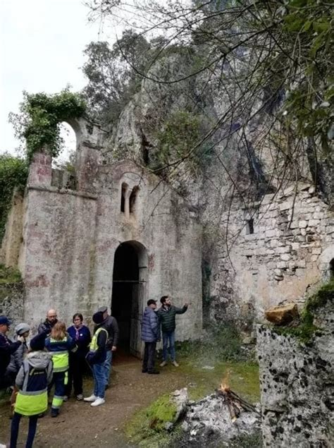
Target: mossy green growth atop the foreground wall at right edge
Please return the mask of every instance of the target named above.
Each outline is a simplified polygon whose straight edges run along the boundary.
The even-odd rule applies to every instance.
[[[274,327],[273,329],[278,334],[297,337],[303,344],[310,343],[314,336],[314,332],[318,329],[316,325],[314,325],[314,313],[329,301],[334,303],[333,279],[328,284],[321,286],[321,288],[307,300],[297,325],[295,325],[296,322],[292,322],[292,325],[290,326]]]

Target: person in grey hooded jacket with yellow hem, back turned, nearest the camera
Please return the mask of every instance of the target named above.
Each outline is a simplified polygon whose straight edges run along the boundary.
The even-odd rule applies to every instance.
[[[52,361],[50,354],[46,351],[32,351],[37,349],[39,347],[35,347],[31,341],[31,352],[27,354],[16,377],[18,395],[11,421],[11,448],[16,448],[21,417],[29,417],[25,447],[31,448],[36,434],[38,416],[47,411],[47,386],[52,380]]]

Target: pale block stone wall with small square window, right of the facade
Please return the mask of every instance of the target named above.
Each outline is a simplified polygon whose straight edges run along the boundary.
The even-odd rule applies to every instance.
[[[334,214],[313,186],[265,195],[253,210],[223,214],[216,229],[210,293],[217,320],[247,323],[278,303],[302,305],[304,293],[330,276]]]

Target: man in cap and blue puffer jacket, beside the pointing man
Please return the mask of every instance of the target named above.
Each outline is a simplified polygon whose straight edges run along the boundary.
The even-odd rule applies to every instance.
[[[142,341],[145,343],[142,373],[159,373],[154,368],[156,358],[156,342],[160,339],[159,317],[156,315],[156,301],[147,301],[142,315]]]

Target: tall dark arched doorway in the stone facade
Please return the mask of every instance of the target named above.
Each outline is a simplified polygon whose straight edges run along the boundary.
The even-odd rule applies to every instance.
[[[111,313],[120,327],[118,346],[140,357],[141,322],[146,303],[147,250],[137,241],[125,241],[113,261]]]

